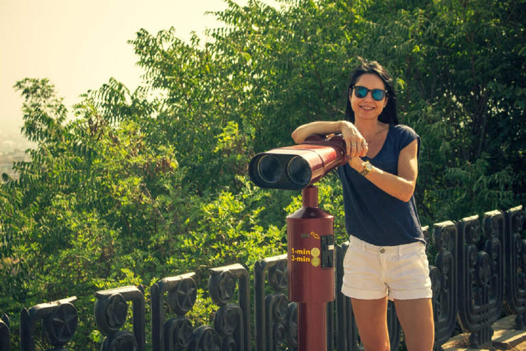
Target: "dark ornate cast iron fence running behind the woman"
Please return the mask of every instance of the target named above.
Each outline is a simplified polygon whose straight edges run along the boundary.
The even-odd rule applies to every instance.
[[[428,238],[429,275],[433,286],[435,350],[442,350],[457,325],[469,332],[472,348],[491,343],[492,324],[504,302],[516,315],[516,328],[526,322],[526,240],[522,206],[492,211],[458,223],[437,223]],[[429,228],[424,228],[426,237]],[[349,298],[340,291],[342,258],[347,243],[336,250],[336,301],[327,304],[327,350],[362,350]],[[297,306],[287,298],[287,256],[265,258],[253,267],[253,309],[249,269],[235,264],[210,269],[208,292],[216,305],[210,326],[193,326],[186,314],[197,300],[194,273],[164,278],[150,289],[151,340],[146,337],[145,290],[118,287],[95,293],[95,321],[105,335],[102,351],[110,350],[295,350]],[[82,316],[76,298],[38,304],[20,316],[22,351],[35,350],[42,326],[49,350],[66,350]],[[129,305],[132,313],[128,313]],[[388,326],[392,350],[399,348],[402,330],[394,305]],[[253,313],[253,318],[252,318]],[[132,316],[130,316],[130,314]],[[132,330],[125,330],[131,326]],[[10,351],[10,319],[0,319],[0,350]],[[253,336],[253,339],[252,339]]]

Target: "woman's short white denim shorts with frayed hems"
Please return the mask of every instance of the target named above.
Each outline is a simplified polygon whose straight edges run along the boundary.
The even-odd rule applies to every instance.
[[[350,298],[412,300],[433,295],[421,242],[376,246],[351,236],[343,268],[342,293]]]

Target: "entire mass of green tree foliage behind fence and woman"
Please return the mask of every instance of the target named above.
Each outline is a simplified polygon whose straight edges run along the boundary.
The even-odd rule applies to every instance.
[[[299,194],[253,186],[248,162],[297,125],[343,119],[358,57],[395,77],[421,135],[423,224],[524,201],[525,0],[226,2],[205,40],[140,29],[142,86],[110,78],[73,121],[48,80],[16,83],[38,146],[0,184],[2,313],[86,296],[75,342],[95,350],[93,291],[283,253]],[[338,181],[319,187],[343,241]]]

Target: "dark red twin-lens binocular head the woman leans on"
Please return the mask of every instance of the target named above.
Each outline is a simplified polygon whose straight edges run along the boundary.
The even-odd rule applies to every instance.
[[[252,182],[266,189],[304,189],[347,162],[342,136],[309,136],[299,145],[255,155],[249,164]]]

